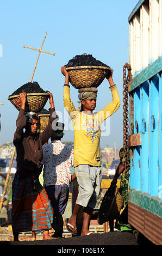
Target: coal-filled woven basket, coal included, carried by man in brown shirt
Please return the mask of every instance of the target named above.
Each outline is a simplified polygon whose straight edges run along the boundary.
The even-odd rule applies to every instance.
[[[8,97],[18,111],[21,108],[20,93],[23,92],[27,93],[25,112],[40,112],[49,98],[49,94],[40,88],[38,82],[26,83]]]

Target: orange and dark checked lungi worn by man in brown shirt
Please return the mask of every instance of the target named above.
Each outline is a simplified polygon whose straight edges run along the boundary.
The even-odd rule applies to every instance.
[[[53,208],[45,188],[37,179],[37,190],[34,191],[33,179],[13,180],[13,217],[12,228],[15,232],[38,231],[51,229]]]

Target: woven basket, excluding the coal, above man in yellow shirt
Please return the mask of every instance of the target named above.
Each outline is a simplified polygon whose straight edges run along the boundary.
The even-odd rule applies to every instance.
[[[76,89],[98,87],[105,78],[106,66],[74,66],[66,68],[70,83]]]

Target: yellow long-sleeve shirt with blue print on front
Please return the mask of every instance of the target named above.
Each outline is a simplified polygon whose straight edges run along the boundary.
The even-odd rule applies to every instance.
[[[74,167],[79,164],[100,166],[99,141],[102,122],[120,107],[116,86],[110,87],[113,100],[102,111],[85,114],[77,111],[70,98],[70,87],[64,86],[64,107],[74,127]]]

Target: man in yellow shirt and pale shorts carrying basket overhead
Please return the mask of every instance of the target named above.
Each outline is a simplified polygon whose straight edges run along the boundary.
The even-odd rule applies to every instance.
[[[61,68],[65,76],[64,107],[68,111],[74,126],[74,168],[78,181],[78,197],[73,213],[66,219],[67,230],[77,235],[76,220],[80,209],[84,208],[81,235],[95,234],[88,230],[93,209],[101,200],[101,161],[99,155],[99,140],[102,122],[110,117],[120,107],[120,97],[113,82],[113,69],[107,77],[113,100],[102,110],[92,113],[96,107],[97,89],[92,92],[79,93],[79,109],[70,99],[69,76],[66,67]]]

